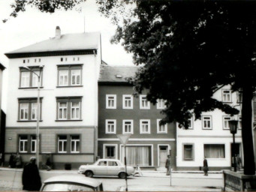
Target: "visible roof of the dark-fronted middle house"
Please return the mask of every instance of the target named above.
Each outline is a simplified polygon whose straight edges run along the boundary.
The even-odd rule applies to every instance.
[[[126,78],[134,77],[138,67],[101,65],[100,84],[106,83],[128,83]]]

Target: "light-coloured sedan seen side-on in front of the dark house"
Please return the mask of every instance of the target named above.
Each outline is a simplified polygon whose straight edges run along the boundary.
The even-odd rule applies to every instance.
[[[79,173],[92,177],[93,175],[116,175],[125,178],[125,165],[116,159],[98,159],[92,165],[81,165]],[[134,172],[133,166],[127,166],[127,175]]]

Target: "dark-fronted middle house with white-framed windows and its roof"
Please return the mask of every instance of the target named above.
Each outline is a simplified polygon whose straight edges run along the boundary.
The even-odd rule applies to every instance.
[[[176,126],[159,125],[164,101],[146,101],[146,92],[134,97],[126,80],[137,67],[101,65],[98,81],[98,155],[124,160],[124,145],[117,134],[131,134],[126,144],[127,163],[131,166],[164,167],[167,154],[176,167]]]

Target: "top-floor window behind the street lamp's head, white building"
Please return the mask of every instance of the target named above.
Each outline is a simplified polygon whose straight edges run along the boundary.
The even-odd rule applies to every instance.
[[[31,71],[20,68],[20,88],[38,87],[38,76],[40,76],[40,86],[42,86],[42,70],[38,66],[30,67],[30,69]]]

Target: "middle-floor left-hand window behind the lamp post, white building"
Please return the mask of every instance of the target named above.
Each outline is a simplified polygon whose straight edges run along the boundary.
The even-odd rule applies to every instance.
[[[39,119],[41,120],[41,105],[39,105]],[[36,121],[38,117],[38,98],[19,98],[19,121]]]

